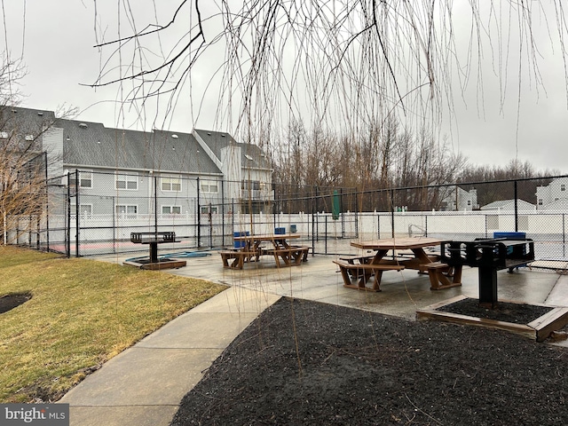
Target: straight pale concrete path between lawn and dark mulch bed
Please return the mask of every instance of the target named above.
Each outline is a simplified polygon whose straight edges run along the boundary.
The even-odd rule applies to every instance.
[[[59,402],[72,426],[167,426],[229,343],[280,296],[228,288],[110,359]]]

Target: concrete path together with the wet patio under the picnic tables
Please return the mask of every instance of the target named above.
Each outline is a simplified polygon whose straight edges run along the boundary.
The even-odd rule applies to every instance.
[[[216,253],[187,259],[169,273],[232,286],[123,351],[59,402],[70,404],[72,426],[166,426],[181,398],[201,380],[226,346],[280,296],[350,306],[414,319],[417,309],[453,296],[477,297],[477,269],[465,268],[460,288],[430,290],[428,276],[383,274],[383,292],[343,288],[331,256],[311,257],[299,267],[273,261],[225,270]],[[117,256],[101,261],[122,263]],[[556,272],[499,272],[500,300],[568,306],[568,276]],[[560,343],[568,347],[568,343]]]

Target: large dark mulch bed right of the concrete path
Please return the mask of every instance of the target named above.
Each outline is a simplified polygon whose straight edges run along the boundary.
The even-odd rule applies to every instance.
[[[195,424],[564,425],[568,351],[281,299],[185,396],[171,425]]]

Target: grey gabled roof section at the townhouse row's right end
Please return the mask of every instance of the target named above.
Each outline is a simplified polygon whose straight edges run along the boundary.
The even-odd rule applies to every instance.
[[[237,142],[229,133],[211,130],[194,129],[201,140],[209,146],[209,149],[221,160],[221,150],[227,146],[238,146],[241,148],[241,165],[245,169],[266,169],[270,170],[270,162],[266,155],[258,146],[253,144],[242,144]]]

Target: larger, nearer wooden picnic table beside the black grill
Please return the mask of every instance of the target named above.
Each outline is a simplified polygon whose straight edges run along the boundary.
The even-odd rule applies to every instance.
[[[381,291],[381,277],[383,271],[401,271],[413,269],[420,273],[428,273],[430,276],[430,288],[438,290],[461,286],[461,266],[450,266],[439,261],[439,256],[428,255],[424,248],[440,246],[446,240],[436,238],[390,238],[372,241],[351,241],[351,246],[362,250],[375,250],[375,256],[365,262],[336,260],[343,274],[344,287],[373,289]],[[391,256],[387,256],[389,252]],[[367,256],[361,256],[366,258]],[[373,288],[367,288],[367,282],[375,276]],[[352,284],[355,277],[358,284]]]

